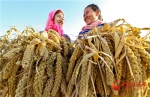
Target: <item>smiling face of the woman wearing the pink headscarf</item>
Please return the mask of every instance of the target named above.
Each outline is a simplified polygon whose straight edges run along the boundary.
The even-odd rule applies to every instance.
[[[54,23],[58,24],[59,26],[64,25],[64,15],[63,15],[63,13],[59,12],[54,16]]]

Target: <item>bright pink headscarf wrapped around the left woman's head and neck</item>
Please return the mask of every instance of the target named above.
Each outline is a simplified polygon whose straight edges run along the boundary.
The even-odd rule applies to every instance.
[[[62,10],[60,10],[60,9],[58,9],[58,10],[62,12]],[[58,10],[53,10],[49,13],[45,30],[48,31],[49,29],[53,29],[53,30],[57,31],[60,36],[62,36],[64,33],[62,26],[54,23],[54,15],[55,15],[56,11],[58,11]],[[64,15],[64,13],[63,13],[63,15]]]

